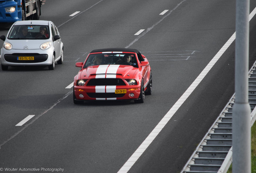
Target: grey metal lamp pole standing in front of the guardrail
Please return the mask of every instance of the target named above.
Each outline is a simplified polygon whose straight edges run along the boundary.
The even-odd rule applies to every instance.
[[[251,109],[248,103],[249,2],[250,0],[236,0],[233,173],[251,173]]]

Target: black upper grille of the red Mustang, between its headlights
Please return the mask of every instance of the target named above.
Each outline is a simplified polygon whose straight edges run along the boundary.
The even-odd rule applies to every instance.
[[[87,86],[97,85],[126,85],[120,78],[95,78],[90,79]]]

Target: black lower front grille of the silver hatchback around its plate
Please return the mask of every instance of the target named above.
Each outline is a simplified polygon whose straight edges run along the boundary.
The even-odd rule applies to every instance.
[[[19,56],[34,56],[34,60],[18,60]],[[35,63],[35,62],[44,62],[48,58],[47,54],[38,54],[38,53],[14,53],[14,54],[5,54],[4,59],[8,62],[17,62],[17,63]]]

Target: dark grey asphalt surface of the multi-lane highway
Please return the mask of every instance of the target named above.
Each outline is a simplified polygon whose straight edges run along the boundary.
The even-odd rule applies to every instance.
[[[255,7],[251,0],[250,12]],[[64,63],[54,70],[0,70],[4,173],[117,173],[235,32],[234,0],[46,0],[41,13],[60,31]],[[10,25],[0,24],[0,35]],[[79,70],[75,63],[93,49],[111,47],[136,48],[149,59],[153,94],[142,104],[74,105],[68,86]],[[249,58],[250,67],[256,60],[255,16]],[[233,42],[129,173],[182,170],[234,93],[234,63]]]

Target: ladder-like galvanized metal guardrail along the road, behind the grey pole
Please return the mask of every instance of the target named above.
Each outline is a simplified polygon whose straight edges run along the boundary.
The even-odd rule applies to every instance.
[[[256,120],[256,61],[248,74],[248,99],[252,110],[251,126]],[[232,163],[232,109],[235,94],[196,147],[181,173],[226,173]]]

